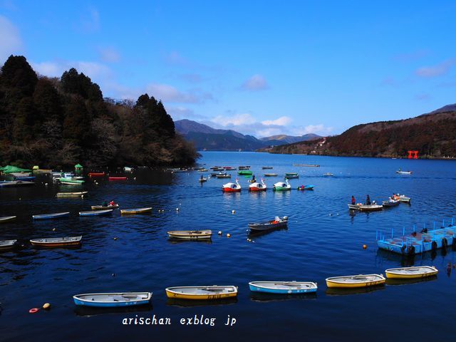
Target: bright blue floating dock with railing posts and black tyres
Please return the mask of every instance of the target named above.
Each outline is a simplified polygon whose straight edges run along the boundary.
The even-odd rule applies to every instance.
[[[383,232],[377,232],[378,247],[398,254],[414,255],[456,245],[456,226],[453,222],[448,227],[442,224],[442,227],[437,229],[415,232],[414,227],[413,230],[411,234],[405,235],[403,229],[403,235],[400,237],[394,237],[392,230],[388,238]]]

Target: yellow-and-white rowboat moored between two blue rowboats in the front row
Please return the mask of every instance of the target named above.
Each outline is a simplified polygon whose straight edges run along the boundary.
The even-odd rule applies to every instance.
[[[168,298],[208,300],[226,299],[237,296],[237,286],[177,286],[168,287]]]

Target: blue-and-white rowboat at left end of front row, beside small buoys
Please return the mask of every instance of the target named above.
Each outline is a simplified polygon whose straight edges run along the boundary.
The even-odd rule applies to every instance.
[[[117,306],[138,306],[150,303],[151,292],[125,292],[108,294],[76,294],[74,304],[109,308]]]

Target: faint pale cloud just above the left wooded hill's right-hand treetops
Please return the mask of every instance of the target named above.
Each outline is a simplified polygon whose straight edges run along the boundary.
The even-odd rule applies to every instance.
[[[204,93],[197,89],[184,92],[169,84],[152,83],[147,86],[146,90],[149,95],[170,103],[203,103],[206,100],[213,99],[210,93]]]

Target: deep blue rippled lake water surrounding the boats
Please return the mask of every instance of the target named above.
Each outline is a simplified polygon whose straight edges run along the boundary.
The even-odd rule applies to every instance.
[[[437,227],[443,219],[450,223],[456,213],[455,162],[254,152],[202,152],[199,162],[207,168],[251,165],[257,179],[264,172],[298,172],[300,178],[290,180],[293,188],[306,184],[315,189],[272,192],[283,177],[266,177],[267,192],[249,193],[247,178],[239,177],[242,192],[226,194],[221,187],[229,180],[211,178],[200,185],[201,172],[148,169],[137,170],[126,182],[90,181],[81,188],[89,192],[85,199],[56,199],[56,192],[73,187],[53,185],[43,177],[33,188],[0,189],[0,216],[18,216],[16,222],[1,224],[0,239],[19,239],[24,245],[0,252],[0,340],[448,341],[453,335],[456,269],[448,273],[447,265],[456,264],[455,252],[403,259],[379,251],[375,232],[388,236],[391,229],[402,234],[403,227],[410,233],[413,224],[430,229],[432,222]],[[261,170],[266,165],[274,169]],[[413,170],[413,175],[396,175],[398,168]],[[324,177],[326,172],[334,177]],[[351,195],[356,202],[364,202],[366,195],[381,202],[393,192],[408,195],[411,204],[382,212],[348,211]],[[152,214],[77,216],[105,199],[123,208],[152,207]],[[71,217],[31,221],[32,214],[63,211]],[[289,216],[288,229],[247,240],[248,222],[276,215]],[[216,234],[210,243],[167,239],[168,230],[180,229],[212,229]],[[36,249],[28,242],[80,234],[83,244],[77,249]],[[387,284],[361,293],[326,289],[328,276],[384,274],[385,269],[412,264],[434,265],[440,273],[430,281]],[[318,292],[299,298],[257,296],[248,286],[255,280],[316,281]],[[168,286],[212,284],[239,286],[237,300],[191,305],[165,295]],[[152,291],[152,306],[87,311],[72,301],[74,294],[111,291]],[[46,302],[51,310],[28,314]],[[171,318],[171,326],[123,325],[123,318],[153,315]],[[214,326],[180,324],[181,318],[195,315],[216,318]],[[234,326],[224,325],[228,316],[236,318]]]

